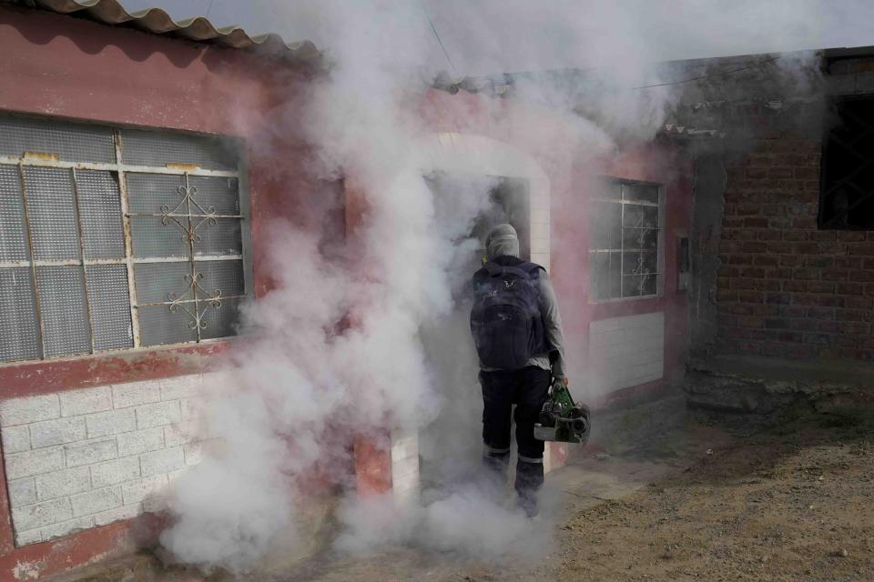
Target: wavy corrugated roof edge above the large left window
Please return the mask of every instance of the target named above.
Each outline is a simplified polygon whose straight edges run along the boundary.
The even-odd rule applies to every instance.
[[[18,4],[38,6],[59,14],[86,15],[107,25],[129,25],[156,35],[172,35],[188,40],[229,46],[263,49],[293,58],[310,59],[320,55],[310,41],[288,44],[275,34],[249,35],[239,26],[216,28],[207,18],[195,16],[179,22],[160,8],[128,13],[117,0],[12,0]]]

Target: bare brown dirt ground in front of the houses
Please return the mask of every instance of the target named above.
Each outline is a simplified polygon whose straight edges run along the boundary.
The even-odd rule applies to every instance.
[[[675,397],[595,422],[601,450],[578,451],[549,478],[557,504],[544,518],[554,522],[553,541],[538,559],[481,562],[392,547],[322,554],[245,579],[874,580],[870,409],[798,406],[751,426],[690,414]]]

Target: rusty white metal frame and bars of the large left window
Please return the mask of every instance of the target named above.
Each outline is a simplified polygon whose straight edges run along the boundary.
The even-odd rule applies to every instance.
[[[205,262],[205,261],[214,261],[214,260],[239,260],[241,261],[242,266],[242,295],[233,295],[233,296],[220,296],[220,300],[224,301],[226,299],[231,299],[239,302],[246,301],[253,296],[254,292],[254,276],[253,276],[253,268],[252,268],[252,238],[251,238],[251,200],[249,197],[249,173],[248,173],[248,160],[246,157],[246,147],[245,142],[239,137],[235,135],[218,135],[218,134],[207,134],[201,132],[190,132],[190,131],[180,131],[172,128],[163,128],[163,127],[144,127],[138,125],[123,125],[123,124],[101,124],[88,120],[81,119],[69,119],[66,117],[56,117],[56,116],[45,116],[45,115],[17,115],[11,112],[0,112],[0,115],[5,118],[16,118],[25,121],[47,121],[47,122],[57,122],[57,123],[65,123],[65,124],[75,124],[75,125],[89,125],[89,126],[99,126],[107,129],[107,131],[111,132],[114,149],[115,149],[115,159],[114,163],[105,163],[105,162],[76,162],[76,161],[66,161],[59,159],[59,156],[53,153],[46,152],[28,152],[25,151],[21,154],[21,156],[3,156],[0,155],[0,166],[11,166],[15,168],[16,176],[19,180],[19,187],[21,190],[22,197],[22,205],[23,205],[23,227],[25,230],[25,245],[28,246],[28,258],[26,260],[15,260],[15,261],[5,261],[0,260],[0,269],[4,268],[15,268],[15,267],[26,267],[28,269],[28,274],[31,279],[31,285],[33,286],[34,293],[34,310],[37,318],[37,346],[39,346],[40,355],[37,357],[24,358],[24,359],[10,359],[10,360],[0,360],[0,367],[5,366],[20,366],[23,364],[46,364],[55,361],[62,361],[65,359],[71,358],[86,358],[86,357],[99,357],[99,356],[107,356],[114,354],[123,354],[131,351],[143,351],[143,350],[154,350],[154,349],[162,349],[162,348],[173,348],[173,347],[185,347],[185,346],[197,346],[199,344],[209,344],[215,342],[227,341],[230,337],[233,336],[218,336],[218,337],[201,337],[200,336],[200,326],[197,326],[197,339],[193,341],[183,341],[183,342],[173,342],[167,344],[154,344],[154,345],[144,345],[142,342],[142,333],[139,325],[139,316],[138,309],[143,306],[154,306],[154,305],[167,305],[168,308],[171,303],[178,304],[189,304],[189,303],[208,303],[205,299],[182,299],[178,302],[150,302],[150,303],[139,303],[137,301],[137,280],[135,273],[135,266],[137,264],[147,264],[147,263],[190,263],[193,266],[197,262]],[[224,142],[225,146],[228,146],[229,149],[233,152],[233,156],[237,162],[237,165],[232,170],[214,170],[214,169],[206,169],[197,165],[185,164],[185,163],[168,163],[166,166],[141,166],[134,164],[127,164],[123,162],[124,159],[122,156],[123,145],[124,145],[124,132],[128,131],[137,131],[137,132],[152,132],[158,135],[190,135],[197,137],[204,137],[208,139],[220,139]],[[76,236],[78,237],[78,258],[71,259],[36,259],[34,256],[34,236],[32,232],[31,226],[31,218],[28,215],[28,206],[27,206],[27,192],[26,192],[26,183],[25,183],[25,167],[44,167],[44,168],[60,168],[66,169],[70,173],[70,180],[73,186],[73,200],[74,200],[74,216],[76,220]],[[108,172],[111,176],[113,176],[117,180],[118,187],[118,196],[119,196],[119,210],[120,210],[120,218],[122,224],[122,233],[123,233],[123,245],[124,245],[124,257],[123,258],[86,258],[85,253],[85,242],[84,242],[84,231],[83,231],[83,223],[81,218],[82,206],[79,202],[79,183],[76,180],[76,172],[77,171],[99,171],[99,172]],[[239,202],[239,214],[238,215],[219,215],[216,214],[215,217],[218,218],[231,218],[239,220],[239,233],[240,233],[240,253],[239,255],[192,255],[188,254],[187,256],[180,257],[137,257],[134,256],[134,247],[133,247],[133,231],[131,227],[131,217],[132,216],[162,216],[161,214],[156,213],[141,213],[141,212],[130,212],[128,192],[127,192],[127,176],[130,174],[145,174],[145,175],[164,175],[164,176],[184,176],[186,180],[186,184],[188,184],[188,176],[204,176],[204,177],[219,177],[219,178],[233,178],[237,181],[237,189],[238,189],[238,202]],[[175,211],[173,211],[175,213]],[[188,214],[191,214],[190,211]],[[187,216],[187,215],[182,215]],[[204,220],[208,220],[204,218]],[[172,225],[168,225],[168,227],[174,227]],[[97,349],[95,347],[95,332],[94,332],[94,324],[95,319],[91,313],[91,297],[88,293],[88,283],[87,283],[87,267],[88,266],[100,266],[100,265],[119,265],[125,266],[125,272],[127,275],[127,294],[128,294],[128,307],[130,313],[130,326],[131,326],[131,346],[126,347],[117,347],[117,348],[109,348],[109,349]],[[39,286],[37,285],[36,280],[36,268],[40,266],[80,266],[82,268],[82,280],[83,280],[83,295],[84,300],[86,302],[87,308],[87,326],[89,329],[90,350],[87,352],[79,353],[79,354],[66,354],[63,356],[46,356],[46,332],[45,326],[43,323],[43,313],[42,306],[40,305],[40,292]],[[184,296],[183,292],[180,294]],[[184,305],[182,305],[184,307]],[[189,312],[190,313],[190,312]],[[197,308],[195,309],[195,313],[198,314]],[[201,315],[206,313],[206,311],[199,312]],[[190,316],[189,314],[180,315],[180,316]],[[195,321],[198,321],[198,318],[195,318]]]

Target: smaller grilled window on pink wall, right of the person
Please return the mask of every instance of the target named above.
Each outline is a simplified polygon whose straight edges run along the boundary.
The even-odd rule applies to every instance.
[[[592,204],[590,296],[595,301],[660,291],[662,189],[606,180]]]

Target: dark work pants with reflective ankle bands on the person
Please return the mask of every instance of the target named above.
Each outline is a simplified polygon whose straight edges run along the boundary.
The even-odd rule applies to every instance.
[[[516,491],[524,503],[536,504],[535,494],[544,484],[544,441],[534,438],[534,423],[544,406],[552,375],[528,366],[521,370],[480,372],[483,386],[483,467],[500,480],[510,464],[511,409],[516,421]]]

